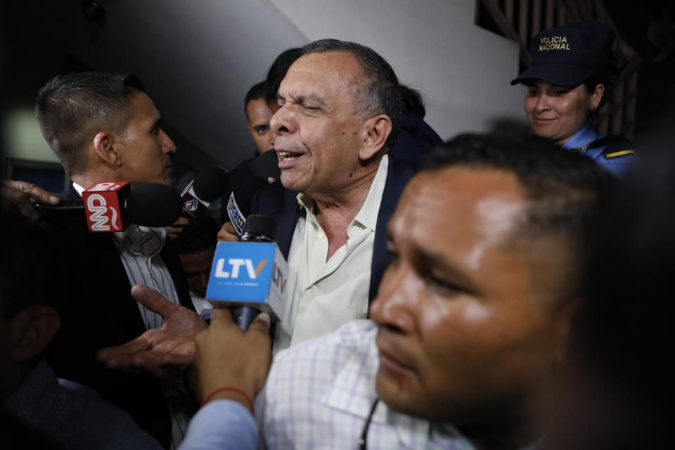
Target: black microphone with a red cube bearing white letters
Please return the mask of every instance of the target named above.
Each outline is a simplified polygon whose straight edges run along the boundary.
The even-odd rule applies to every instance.
[[[181,197],[172,186],[158,183],[131,185],[123,182],[98,183],[82,192],[82,200],[58,205],[36,203],[40,219],[84,214],[90,233],[124,231],[129,224],[167,226],[181,215]]]

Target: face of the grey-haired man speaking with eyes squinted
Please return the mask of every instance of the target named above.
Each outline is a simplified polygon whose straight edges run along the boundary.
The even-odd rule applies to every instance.
[[[352,184],[364,120],[354,115],[350,83],[361,72],[343,51],[311,53],[290,66],[270,121],[285,188],[314,196]]]

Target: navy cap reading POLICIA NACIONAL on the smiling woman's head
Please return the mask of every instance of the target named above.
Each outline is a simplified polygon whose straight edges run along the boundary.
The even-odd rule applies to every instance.
[[[511,84],[544,79],[560,86],[577,86],[591,70],[606,70],[614,31],[595,20],[549,28],[532,38],[532,66]]]

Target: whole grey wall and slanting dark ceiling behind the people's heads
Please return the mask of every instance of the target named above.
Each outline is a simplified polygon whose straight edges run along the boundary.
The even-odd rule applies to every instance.
[[[253,150],[245,92],[278,53],[324,37],[380,52],[401,82],[422,91],[428,122],[444,138],[523,117],[522,89],[508,84],[518,46],[474,25],[475,0],[98,3],[102,23],[85,20],[80,0],[13,4],[10,65],[21,71],[15,83],[22,89],[13,95],[18,112],[5,124],[7,155],[55,160],[25,111],[41,84],[75,64],[139,75],[179,146],[179,162],[233,167]]]

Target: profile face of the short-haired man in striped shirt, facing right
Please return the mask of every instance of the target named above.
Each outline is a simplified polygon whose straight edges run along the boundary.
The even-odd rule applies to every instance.
[[[122,155],[120,180],[131,186],[142,183],[171,184],[171,159],[176,151],[174,141],[161,127],[161,117],[146,94],[134,96],[134,116],[126,133],[117,136]]]

